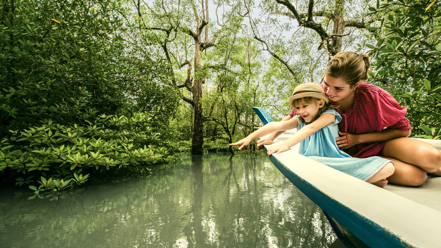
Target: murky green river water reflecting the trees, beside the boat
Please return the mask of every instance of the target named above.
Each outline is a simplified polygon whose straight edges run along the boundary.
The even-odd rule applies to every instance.
[[[328,247],[321,209],[264,154],[209,153],[55,201],[0,190],[0,247]]]

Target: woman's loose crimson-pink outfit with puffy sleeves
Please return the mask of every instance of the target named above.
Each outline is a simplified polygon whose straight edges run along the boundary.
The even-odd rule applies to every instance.
[[[349,112],[345,114],[340,112],[343,119],[338,124],[338,128],[340,132],[352,134],[380,132],[384,128],[407,131],[411,126],[405,117],[406,112],[407,108],[400,106],[386,90],[370,83],[362,83],[355,90],[354,105]],[[295,115],[295,109],[290,115]],[[344,151],[352,157],[367,158],[380,154],[385,143],[385,141],[362,143]]]

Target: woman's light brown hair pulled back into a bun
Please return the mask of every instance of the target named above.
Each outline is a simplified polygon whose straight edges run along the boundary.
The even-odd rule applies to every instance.
[[[366,81],[369,67],[368,55],[355,52],[340,52],[329,60],[325,75],[341,78],[352,87],[359,81]]]

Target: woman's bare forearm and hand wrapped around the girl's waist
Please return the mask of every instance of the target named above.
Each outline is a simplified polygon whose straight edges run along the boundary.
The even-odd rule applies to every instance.
[[[336,138],[335,141],[339,149],[347,149],[349,147],[355,146],[356,144],[381,142],[401,137],[407,137],[410,136],[411,133],[411,130],[400,131],[394,128],[385,128],[381,132],[370,132],[363,134],[338,132],[338,134],[341,136]],[[348,135],[348,141],[346,141],[346,135]]]

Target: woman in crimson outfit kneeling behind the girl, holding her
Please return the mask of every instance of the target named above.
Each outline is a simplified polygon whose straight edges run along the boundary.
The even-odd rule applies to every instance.
[[[411,135],[404,116],[407,109],[387,91],[365,83],[369,67],[369,57],[354,52],[337,53],[328,62],[322,86],[343,117],[339,129],[344,132],[336,138],[338,147],[353,157],[377,155],[394,162],[395,172],[387,178],[392,184],[419,186],[426,181],[426,173],[441,176],[441,152],[426,142],[407,138]],[[277,135],[261,140],[258,147]]]

